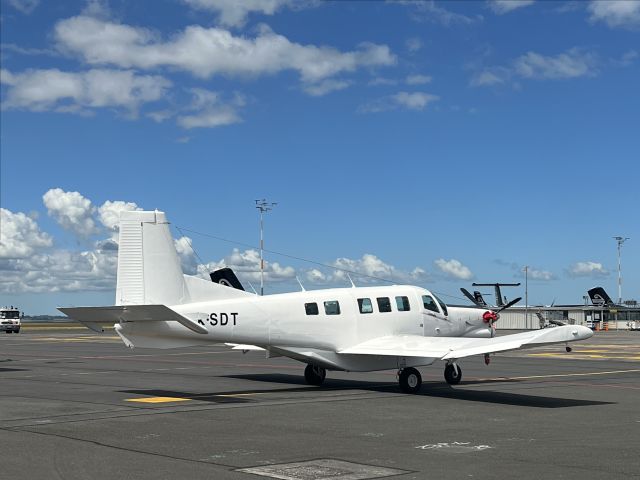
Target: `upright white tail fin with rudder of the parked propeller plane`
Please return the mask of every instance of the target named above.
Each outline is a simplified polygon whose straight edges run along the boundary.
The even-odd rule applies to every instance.
[[[188,301],[164,212],[121,212],[116,305],[179,305]]]

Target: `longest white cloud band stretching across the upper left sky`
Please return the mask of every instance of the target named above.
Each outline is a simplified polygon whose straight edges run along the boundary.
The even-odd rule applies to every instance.
[[[88,16],[61,20],[55,39],[61,50],[91,64],[121,68],[176,68],[209,78],[212,75],[260,76],[297,71],[306,83],[320,82],[362,67],[394,65],[386,45],[361,43],[354,51],[301,45],[267,27],[258,36],[234,36],[222,28],[191,25],[162,41],[151,30]]]

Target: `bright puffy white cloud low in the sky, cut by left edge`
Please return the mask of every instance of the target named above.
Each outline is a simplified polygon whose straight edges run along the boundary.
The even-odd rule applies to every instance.
[[[0,258],[28,257],[51,245],[51,237],[32,218],[0,208]]]

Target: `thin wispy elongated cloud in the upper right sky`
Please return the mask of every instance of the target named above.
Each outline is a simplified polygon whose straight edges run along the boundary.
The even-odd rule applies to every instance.
[[[486,87],[508,84],[512,79],[559,80],[595,76],[597,58],[593,53],[571,48],[557,55],[527,52],[507,66],[486,67],[473,75],[470,85]]]

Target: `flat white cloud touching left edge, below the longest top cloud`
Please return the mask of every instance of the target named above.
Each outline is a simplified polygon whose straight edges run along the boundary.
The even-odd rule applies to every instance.
[[[100,69],[2,70],[1,81],[9,85],[3,108],[75,113],[87,108],[122,107],[133,114],[141,104],[160,99],[171,85],[157,75]]]

